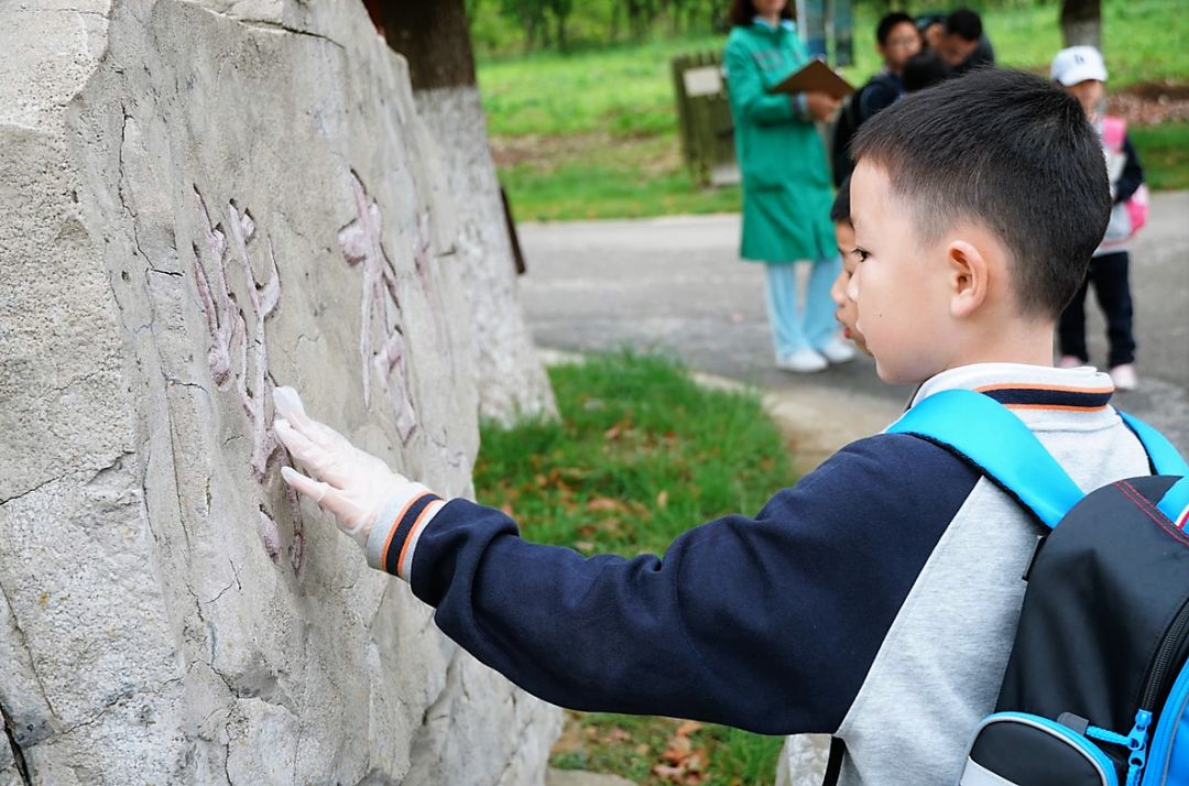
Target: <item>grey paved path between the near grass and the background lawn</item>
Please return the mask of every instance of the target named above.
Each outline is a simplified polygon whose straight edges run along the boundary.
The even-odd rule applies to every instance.
[[[738,262],[738,215],[522,225],[522,301],[542,347],[669,351],[767,391],[794,425],[804,471],[883,428],[910,390],[881,383],[867,358],[819,375],[778,371],[762,271]],[[1189,191],[1155,197],[1132,260],[1141,386],[1115,403],[1189,452]],[[1092,361],[1101,364],[1102,319],[1096,306],[1087,310]]]

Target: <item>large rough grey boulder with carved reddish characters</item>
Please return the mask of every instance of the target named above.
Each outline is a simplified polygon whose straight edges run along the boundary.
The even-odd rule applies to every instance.
[[[279,478],[292,384],[471,491],[458,225],[363,6],[7,2],[0,51],[0,706],[31,781],[542,782],[559,713]]]

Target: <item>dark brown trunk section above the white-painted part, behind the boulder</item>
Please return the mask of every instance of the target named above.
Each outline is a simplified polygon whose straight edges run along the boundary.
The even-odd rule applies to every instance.
[[[414,90],[474,84],[474,55],[464,0],[383,0],[388,45],[409,61]]]

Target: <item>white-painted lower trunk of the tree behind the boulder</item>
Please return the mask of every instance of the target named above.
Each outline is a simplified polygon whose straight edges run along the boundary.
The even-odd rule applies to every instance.
[[[459,271],[474,315],[471,348],[480,411],[505,423],[517,415],[555,415],[553,389],[520,303],[479,90],[416,90],[414,100],[440,142],[457,206]]]

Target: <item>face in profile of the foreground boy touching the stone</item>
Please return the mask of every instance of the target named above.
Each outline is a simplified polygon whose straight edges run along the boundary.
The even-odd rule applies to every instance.
[[[857,264],[845,294],[880,378],[914,384],[943,371],[951,328],[944,244],[920,245],[910,206],[863,161],[850,178],[850,218]]]

